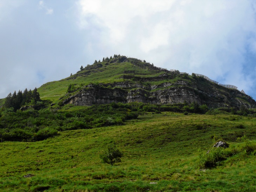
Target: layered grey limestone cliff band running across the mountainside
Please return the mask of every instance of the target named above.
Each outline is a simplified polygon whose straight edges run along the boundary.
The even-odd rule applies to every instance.
[[[223,91],[224,89],[224,91]],[[147,84],[134,81],[114,82],[107,84],[89,84],[79,92],[66,98],[63,104],[90,106],[93,104],[108,104],[112,102],[130,103],[143,102],[151,104],[192,103],[207,104],[217,107],[231,103],[233,105],[248,105],[237,99],[243,94],[238,90],[228,90],[220,85],[201,86],[186,81],[174,83]],[[250,100],[250,98],[248,98]],[[251,99],[252,100],[252,99]],[[254,100],[251,101],[255,103]],[[256,105],[256,103],[255,103]]]

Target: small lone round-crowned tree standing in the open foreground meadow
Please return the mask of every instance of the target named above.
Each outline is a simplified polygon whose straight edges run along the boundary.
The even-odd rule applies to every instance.
[[[114,163],[121,162],[123,153],[116,148],[114,143],[110,143],[107,149],[100,155],[103,163],[110,164],[113,166]]]

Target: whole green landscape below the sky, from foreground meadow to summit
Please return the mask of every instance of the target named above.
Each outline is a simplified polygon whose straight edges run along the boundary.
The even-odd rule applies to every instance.
[[[17,92],[0,99],[0,191],[256,191],[244,92],[120,55]]]

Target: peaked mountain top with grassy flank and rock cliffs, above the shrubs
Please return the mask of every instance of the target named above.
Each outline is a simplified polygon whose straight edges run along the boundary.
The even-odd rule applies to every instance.
[[[255,100],[234,85],[223,85],[200,74],[170,71],[126,56],[104,62],[95,60],[70,77],[43,84],[38,91],[42,99],[60,106],[112,102],[157,105],[196,102],[210,108],[256,106]]]

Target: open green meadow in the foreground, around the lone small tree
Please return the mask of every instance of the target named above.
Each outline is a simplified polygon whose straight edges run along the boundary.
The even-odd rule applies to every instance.
[[[237,154],[209,170],[197,166],[214,135],[236,147],[237,137],[255,138],[255,125],[255,118],[234,115],[162,113],[40,142],[3,142],[0,190],[256,191],[255,156]],[[124,153],[114,166],[99,158],[111,141]]]

